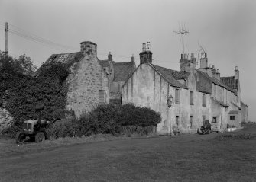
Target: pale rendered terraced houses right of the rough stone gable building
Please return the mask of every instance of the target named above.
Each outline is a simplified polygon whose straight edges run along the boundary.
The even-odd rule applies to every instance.
[[[157,60],[155,60],[157,62]],[[171,107],[168,98],[173,98]],[[173,130],[196,133],[209,120],[212,130],[222,131],[229,125],[241,126],[248,121],[247,105],[241,102],[239,71],[230,77],[220,77],[219,69],[208,65],[207,53],[200,59],[182,54],[180,71],[152,63],[152,53],[143,47],[140,65],[122,86],[122,103],[150,107],[161,113],[157,132]]]

